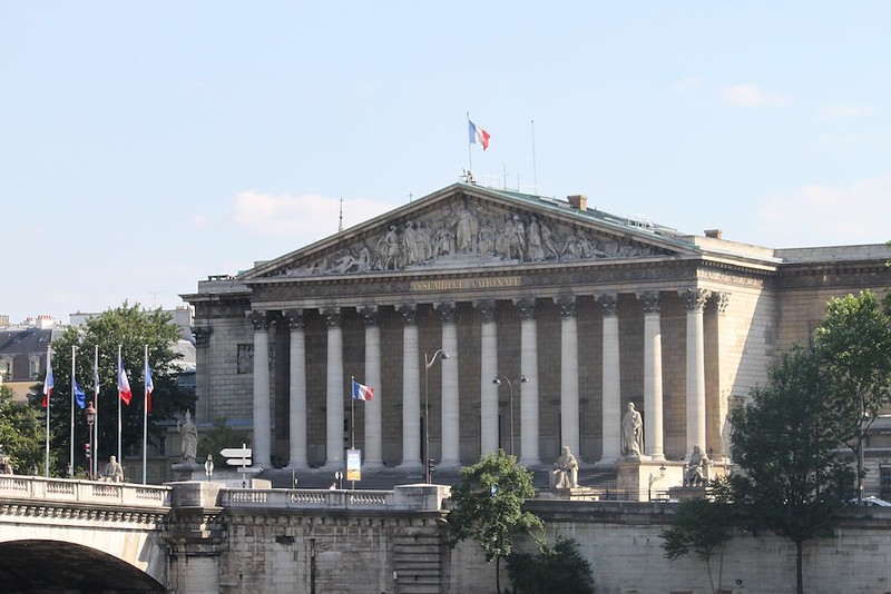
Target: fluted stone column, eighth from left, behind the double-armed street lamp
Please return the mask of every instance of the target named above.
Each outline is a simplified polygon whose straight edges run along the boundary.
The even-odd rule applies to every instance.
[[[520,397],[520,459],[523,466],[538,466],[539,424],[538,424],[538,330],[536,328],[536,299],[523,297],[515,299],[520,313],[520,374],[526,383],[517,382]]]

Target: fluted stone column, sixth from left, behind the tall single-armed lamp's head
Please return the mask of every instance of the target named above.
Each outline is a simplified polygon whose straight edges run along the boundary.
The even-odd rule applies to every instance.
[[[442,439],[441,459],[442,468],[458,468],[461,466],[461,429],[460,405],[458,396],[458,325],[456,324],[456,303],[438,303],[434,305],[442,317],[442,350],[449,358],[441,360],[442,365]]]

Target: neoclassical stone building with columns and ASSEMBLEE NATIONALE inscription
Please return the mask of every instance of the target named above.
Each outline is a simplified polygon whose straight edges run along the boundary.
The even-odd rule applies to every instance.
[[[634,403],[652,459],[722,459],[732,398],[826,300],[891,286],[885,246],[756,247],[586,202],[456,184],[200,281],[198,422],[252,427],[266,467],[341,468],[353,442],[363,469],[561,445],[611,466]]]

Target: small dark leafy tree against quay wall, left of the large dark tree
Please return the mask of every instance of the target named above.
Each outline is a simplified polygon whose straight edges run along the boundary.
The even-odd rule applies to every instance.
[[[662,544],[665,556],[674,561],[686,555],[694,555],[704,561],[712,592],[717,592],[712,571],[712,557],[715,553],[719,555],[717,572],[717,588],[719,590],[724,567],[724,547],[731,539],[728,526],[730,508],[725,501],[713,501],[706,497],[684,499],[675,507],[672,527],[664,529],[660,534],[665,539]]]

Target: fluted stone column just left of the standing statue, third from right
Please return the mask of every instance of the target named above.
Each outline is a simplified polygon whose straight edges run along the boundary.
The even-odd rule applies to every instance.
[[[603,426],[604,455],[600,464],[614,464],[621,452],[621,380],[619,367],[619,296],[605,293],[598,298],[604,315]]]

